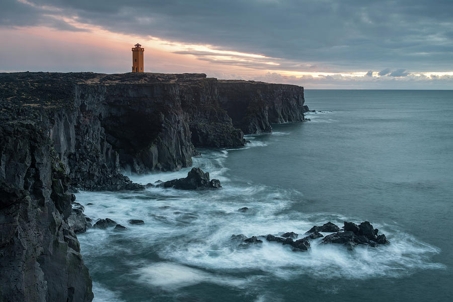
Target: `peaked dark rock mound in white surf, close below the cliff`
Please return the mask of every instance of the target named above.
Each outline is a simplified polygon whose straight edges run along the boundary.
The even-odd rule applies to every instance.
[[[221,188],[220,181],[213,179],[209,181],[209,173],[204,173],[200,168],[192,168],[186,178],[173,179],[159,184],[164,188],[174,187],[181,190]]]

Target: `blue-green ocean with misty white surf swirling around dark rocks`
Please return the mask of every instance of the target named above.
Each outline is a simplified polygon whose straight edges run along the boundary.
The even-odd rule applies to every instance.
[[[275,125],[244,148],[201,150],[194,166],[220,190],[77,194],[86,215],[128,228],[78,236],[94,301],[450,301],[453,91],[307,90],[306,104],[318,111],[311,121]],[[318,239],[292,252],[230,240],[301,238],[344,220],[370,221],[391,244],[348,251]]]

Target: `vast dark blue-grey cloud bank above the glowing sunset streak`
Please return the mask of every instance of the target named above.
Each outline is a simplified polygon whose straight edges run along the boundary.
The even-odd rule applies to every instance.
[[[450,0],[29,1],[36,8],[8,0],[0,24],[68,30],[45,17],[47,6],[114,32],[310,62],[319,71],[453,70]]]

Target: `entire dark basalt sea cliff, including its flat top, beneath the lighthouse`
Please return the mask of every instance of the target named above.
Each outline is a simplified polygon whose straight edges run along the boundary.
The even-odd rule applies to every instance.
[[[91,301],[68,194],[304,120],[304,90],[205,74],[0,73],[0,301]]]

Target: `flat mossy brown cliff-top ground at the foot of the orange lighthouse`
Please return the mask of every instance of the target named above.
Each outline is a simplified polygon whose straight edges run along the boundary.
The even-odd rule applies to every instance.
[[[244,80],[217,80],[204,73],[94,73],[94,72],[2,72],[0,73],[0,121],[36,121],[41,110],[71,106],[74,85],[248,83]],[[292,86],[292,85],[291,85]]]

